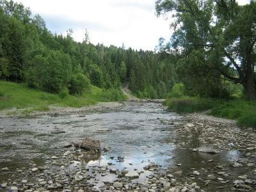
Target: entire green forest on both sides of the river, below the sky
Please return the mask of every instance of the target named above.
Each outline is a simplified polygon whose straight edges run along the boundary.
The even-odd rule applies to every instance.
[[[72,38],[72,29],[53,34],[40,15],[1,0],[0,79],[61,97],[90,94],[92,86],[118,95],[105,100],[124,99],[121,88],[128,87],[140,99],[167,99],[180,113],[251,114],[256,125],[256,3],[157,0],[156,14],[172,18],[174,33],[143,51],[94,45],[87,29],[83,42]]]

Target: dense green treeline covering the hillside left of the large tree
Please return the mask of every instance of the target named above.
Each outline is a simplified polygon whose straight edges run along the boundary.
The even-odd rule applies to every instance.
[[[75,42],[52,34],[40,15],[13,1],[0,1],[0,79],[26,82],[51,93],[81,94],[90,84],[129,88],[138,97],[164,98],[177,77],[175,56],[152,51]]]

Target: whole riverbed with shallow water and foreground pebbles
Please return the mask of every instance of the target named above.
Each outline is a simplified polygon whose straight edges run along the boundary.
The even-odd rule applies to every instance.
[[[255,189],[254,164],[229,166],[244,157],[244,151],[193,152],[202,142],[196,131],[180,132],[189,122],[188,117],[170,113],[154,102],[125,102],[118,108],[64,115],[1,118],[0,184],[4,185],[0,191],[11,187],[20,191],[163,191],[179,189],[177,186],[188,191],[231,191],[236,189],[234,180],[249,177],[252,184],[243,184]],[[86,136],[99,140],[102,151],[64,147]],[[134,172],[136,176],[125,177]],[[209,175],[214,177],[207,179]],[[116,188],[116,182],[122,186]]]

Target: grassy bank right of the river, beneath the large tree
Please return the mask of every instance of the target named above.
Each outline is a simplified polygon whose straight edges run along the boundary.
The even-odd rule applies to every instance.
[[[197,97],[183,97],[182,99],[166,99],[166,106],[177,113],[194,113],[206,111],[207,115],[237,120],[246,127],[256,127],[256,102],[242,99],[218,100]]]

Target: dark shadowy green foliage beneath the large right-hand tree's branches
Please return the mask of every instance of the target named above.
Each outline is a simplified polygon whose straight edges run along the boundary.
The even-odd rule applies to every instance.
[[[213,66],[206,72],[210,65],[207,62],[204,50],[194,50],[187,58],[178,60],[177,71],[184,83],[184,92],[189,96],[229,99],[231,94],[221,81],[220,72]]]

